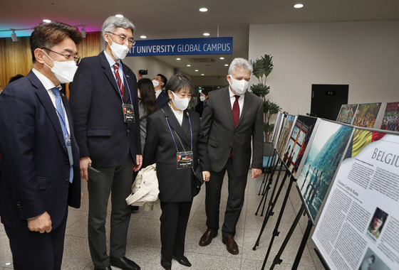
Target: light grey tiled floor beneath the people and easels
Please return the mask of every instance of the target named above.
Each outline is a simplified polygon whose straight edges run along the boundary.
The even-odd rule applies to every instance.
[[[279,196],[279,200],[276,203],[276,207],[274,208],[275,213],[269,218],[269,222],[261,236],[259,247],[254,251],[252,250],[252,247],[254,247],[254,244],[257,241],[261,225],[264,221],[264,217],[254,215],[261,200],[261,196],[257,194],[262,178],[263,174],[257,179],[251,179],[249,175],[246,200],[244,202],[242,214],[237,225],[237,234],[235,236],[237,244],[239,245],[238,255],[232,255],[227,252],[226,247],[222,244],[220,233],[212,241],[212,244],[207,247],[199,247],[199,238],[207,229],[205,225],[205,190],[204,187],[202,188],[201,192],[193,202],[189,225],[187,227],[185,255],[192,263],[190,269],[261,269],[264,257],[269,247],[271,233],[274,230],[276,220],[279,216],[288,183],[287,180],[287,183]],[[227,181],[226,178],[224,180],[222,202],[220,206],[221,222],[223,220],[222,215],[227,202]],[[281,183],[281,179],[279,183]],[[85,197],[81,208],[78,210],[71,208],[69,211],[62,269],[93,269],[87,239],[88,193],[86,183],[84,185],[84,193]],[[269,196],[270,193],[271,190]],[[267,198],[266,207],[269,202],[269,196]],[[294,222],[294,218],[296,217],[296,213],[299,211],[300,207],[301,199],[299,198],[296,188],[293,186],[279,226],[279,237],[274,239],[274,244],[271,248],[265,269],[270,268],[271,263],[279,251],[279,248],[284,241],[284,237],[289,231],[292,222]],[[131,216],[126,257],[133,259],[143,270],[162,269],[162,266],[160,266],[159,218],[160,211],[145,212],[139,210]],[[107,225],[109,231],[109,220]],[[296,227],[290,242],[281,256],[281,259],[283,260],[282,263],[277,264],[274,269],[291,269],[292,264],[294,264],[296,252],[306,229],[306,225],[306,217],[301,217],[299,226]],[[9,240],[2,225],[0,225],[0,269],[13,269],[11,252],[9,250]],[[113,267],[113,269],[117,268]],[[172,261],[172,269],[189,268],[181,266],[177,261]],[[324,269],[314,252],[314,244],[310,238],[305,247],[298,269]]]

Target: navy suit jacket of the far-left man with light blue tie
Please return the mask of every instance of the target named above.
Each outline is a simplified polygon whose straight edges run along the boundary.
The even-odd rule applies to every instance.
[[[64,95],[62,101],[71,130],[73,183],[61,124],[38,77],[31,71],[1,92],[0,215],[8,227],[28,231],[26,220],[47,211],[55,229],[67,205],[81,205],[79,150]]]

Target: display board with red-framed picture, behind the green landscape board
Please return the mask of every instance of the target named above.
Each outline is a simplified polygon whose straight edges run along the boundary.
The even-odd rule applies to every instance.
[[[297,172],[300,172],[304,166],[301,163],[302,158],[307,156],[306,148],[311,143],[312,134],[317,129],[320,119],[316,117],[306,117],[299,115],[295,121],[294,128],[289,135],[288,142],[284,149],[283,162],[286,168],[291,171],[295,178],[298,178]],[[304,160],[305,161],[305,160]]]

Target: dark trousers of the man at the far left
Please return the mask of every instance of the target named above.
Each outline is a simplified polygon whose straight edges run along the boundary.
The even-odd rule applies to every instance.
[[[58,270],[61,269],[66,217],[51,232],[21,232],[4,226],[10,240],[15,270]]]

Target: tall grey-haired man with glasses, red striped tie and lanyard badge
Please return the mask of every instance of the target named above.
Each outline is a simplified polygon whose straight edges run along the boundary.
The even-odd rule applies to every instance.
[[[95,269],[140,269],[125,257],[133,170],[142,164],[137,80],[121,59],[135,43],[135,26],[110,16],[103,23],[105,50],[84,58],[70,85],[75,134],[81,151],[81,177],[88,180],[88,240]],[[100,171],[94,178],[89,166]],[[110,255],[105,218],[112,193]]]

